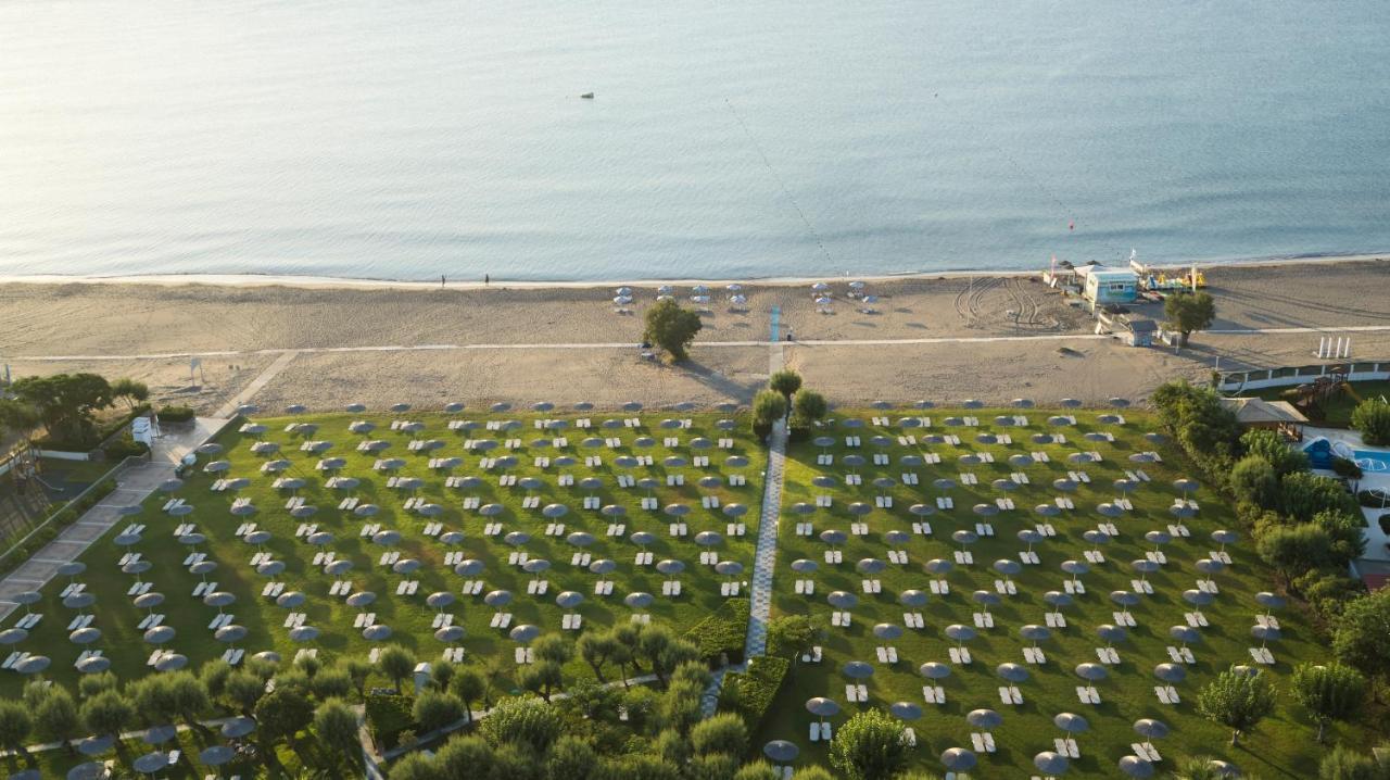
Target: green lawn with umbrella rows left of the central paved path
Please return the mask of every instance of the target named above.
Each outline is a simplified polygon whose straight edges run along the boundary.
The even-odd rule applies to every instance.
[[[506,612],[513,615],[512,627],[534,624],[542,633],[562,630],[564,610],[555,603],[555,596],[567,590],[585,596],[574,610],[582,616],[585,630],[630,620],[634,609],[626,606],[623,599],[637,591],[653,594],[656,598],[649,608],[635,612],[649,613],[653,623],[666,623],[677,631],[688,628],[723,603],[720,583],[724,577],[716,574],[710,566],[699,563],[699,553],[706,548],[698,546],[694,537],[705,530],[719,531],[724,537],[723,541],[708,549],[716,551],[720,560],[737,560],[744,566],[752,563],[763,456],[749,449],[746,423],[742,419],[730,421],[727,425],[731,430],[723,431],[716,427],[721,417],[719,414],[646,412],[623,414],[623,417],[639,417],[644,424],[641,428],[627,428],[621,424],[616,428],[603,428],[606,419],[617,416],[594,414],[594,428],[588,431],[574,425],[577,421],[574,416],[564,417],[569,427],[563,430],[539,430],[535,423],[542,417],[550,419],[532,413],[491,414],[485,419],[439,413],[406,413],[395,417],[302,416],[257,420],[267,428],[261,435],[240,432],[236,425],[228,428],[218,438],[218,444],[225,448],[224,453],[202,456],[199,471],[189,476],[181,488],[156,494],[146,502],[140,514],[117,526],[120,533],[131,524],[143,524],[145,531],[139,542],[128,548],[118,546],[117,534],[108,534],[83,555],[82,560],[88,564],[88,570],[78,580],[86,584],[89,592],[96,594],[97,601],[90,612],[96,613],[93,626],[103,633],[100,641],[92,647],[104,651],[113,662],[113,672],[121,679],[133,679],[150,669],[146,660],[156,648],[143,641],[143,631],[138,627],[146,613],[136,609],[128,595],[135,577],[122,573],[118,566],[120,558],[126,552],[139,553],[154,564],[152,571],[145,574],[145,580],[153,583],[153,590],[165,596],[164,605],[154,612],[163,613],[163,624],[172,627],[177,634],[163,647],[188,656],[190,667],[221,656],[225,649],[225,645],[214,641],[208,628],[218,610],[192,595],[202,577],[192,574],[183,563],[190,551],[206,552],[208,559],[218,564],[207,580],[217,583],[217,591],[236,596],[236,602],[225,608],[225,612],[235,615],[234,623],[247,630],[246,638],[236,642],[236,647],[245,648],[247,653],[274,649],[286,659],[300,648],[318,648],[321,658],[325,659],[345,653],[366,656],[377,644],[400,644],[413,649],[421,659],[434,659],[439,658],[446,647],[459,647],[466,652],[466,662],[488,663],[489,659],[496,659],[489,669],[509,679],[516,670],[512,656],[517,645],[507,637],[507,631],[489,626],[493,609],[482,602],[489,591],[507,590],[513,594],[514,601],[506,608]],[[354,420],[371,421],[377,430],[370,435],[350,432],[348,428]],[[398,432],[391,430],[393,420],[417,421],[421,427],[414,432]],[[478,425],[475,430],[452,431],[448,427],[450,420],[474,420]],[[495,423],[513,420],[516,427],[488,430],[485,425],[488,420]],[[663,428],[660,427],[663,420],[676,424],[689,420],[689,427]],[[318,428],[307,435],[288,432],[285,428],[292,423],[309,423]],[[555,446],[550,441],[555,437],[567,438],[567,446]],[[585,442],[591,437],[613,437],[621,444],[607,446],[603,442]],[[678,444],[666,446],[667,437],[677,439]],[[698,438],[706,439],[710,444],[709,449],[694,449],[692,442]],[[720,438],[731,438],[733,448],[714,446]],[[359,442],[368,439],[389,442],[389,448],[379,453],[356,449]],[[411,452],[409,448],[411,441],[430,439],[442,442],[439,449]],[[466,450],[466,439],[491,441],[496,445],[486,452]],[[509,449],[506,446],[509,439],[517,439],[518,446]],[[539,439],[546,442],[542,444]],[[646,441],[639,442],[639,439]],[[279,452],[253,453],[252,445],[261,441],[279,445]],[[332,448],[325,453],[302,452],[300,448],[306,441],[332,442]],[[592,444],[599,446],[588,446]],[[514,456],[514,466],[480,469],[482,457],[500,459],[507,455]],[[457,467],[430,469],[431,459],[455,456],[461,459]],[[562,464],[566,456],[574,457],[575,463]],[[585,466],[585,459],[589,456],[599,457],[602,463],[594,467]],[[619,459],[624,456],[651,456],[653,466],[620,466]],[[691,462],[694,456],[708,456],[710,466],[663,464],[667,457]],[[730,456],[746,457],[749,463],[730,467],[726,460]],[[325,457],[342,457],[345,463],[335,474],[357,478],[360,484],[353,489],[325,487],[327,476],[317,469],[318,462]],[[403,463],[391,471],[374,470],[377,460],[388,457],[399,457]],[[537,464],[537,457],[549,457],[552,463],[549,467],[541,467]],[[304,487],[296,491],[272,487],[277,474],[263,473],[261,466],[274,459],[289,460],[288,469],[278,477],[302,478]],[[211,460],[227,460],[229,466],[221,474],[203,471],[202,469]],[[500,487],[502,474],[516,477],[520,484]],[[573,474],[575,482],[585,477],[598,477],[602,485],[595,489],[578,485],[559,487],[560,474]],[[620,488],[619,474],[652,477],[659,485],[649,489]],[[667,476],[677,474],[684,476],[685,484],[667,485]],[[746,487],[730,487],[727,477],[731,474],[746,476]],[[445,481],[449,476],[474,476],[480,480],[475,487],[446,488]],[[720,484],[699,487],[701,477],[708,476],[719,476]],[[225,492],[211,489],[217,478],[238,477],[247,478],[247,487]],[[388,488],[388,480],[392,477],[416,477],[421,484],[414,489]],[[538,480],[531,489],[523,487],[527,477]],[[307,519],[292,517],[285,506],[295,495],[317,507],[317,512]],[[598,496],[602,506],[626,509],[626,517],[616,520],[626,524],[623,537],[607,537],[610,519],[598,510],[581,509],[581,502],[588,495]],[[348,496],[375,505],[379,512],[374,517],[359,517],[353,512],[339,510],[339,502]],[[539,507],[557,503],[566,506],[569,512],[563,517],[549,520],[542,516],[539,507],[523,509],[527,496],[535,496]],[[662,509],[641,509],[639,499],[648,496],[655,498]],[[730,503],[748,506],[748,514],[741,519],[746,524],[746,535],[728,535],[730,517],[723,514],[721,509],[702,507],[702,496],[717,496],[721,506]],[[498,505],[499,513],[484,517],[475,509],[464,510],[467,498],[475,498],[480,506]],[[185,517],[168,516],[161,507],[170,499],[185,499],[193,505],[192,513]],[[254,514],[232,516],[229,510],[236,499],[249,499],[256,507]],[[425,517],[416,510],[407,510],[403,507],[407,499],[435,505],[439,513]],[[684,537],[670,535],[669,521],[674,517],[666,513],[666,507],[676,503],[689,507],[689,514],[684,517],[688,527]],[[207,541],[196,548],[181,544],[174,531],[183,523],[193,524]],[[257,530],[268,531],[270,541],[257,546],[238,538],[235,534],[243,523],[254,523]],[[361,535],[367,523],[379,524],[382,530],[399,531],[400,541],[389,548],[374,544]],[[435,535],[425,535],[428,523],[439,524]],[[500,524],[502,531],[491,537],[484,535],[488,523]],[[550,523],[563,523],[563,534],[546,535]],[[322,546],[309,544],[307,537],[296,537],[303,524],[332,534],[332,539]],[[685,563],[685,571],[680,576],[684,585],[680,596],[664,598],[662,581],[666,576],[659,574],[655,566],[634,563],[634,555],[639,548],[628,537],[639,530],[651,531],[655,537],[646,546],[653,553],[653,562],[674,559]],[[439,537],[449,531],[461,531],[463,539],[457,544],[442,542]],[[524,546],[512,546],[505,542],[505,537],[513,531],[530,534],[531,539]],[[614,581],[612,595],[594,595],[594,583],[599,577],[582,566],[571,564],[571,555],[581,548],[569,544],[566,535],[575,531],[587,531],[594,537],[594,544],[582,548],[582,552],[588,552],[592,559],[610,558],[617,563],[616,570],[606,577]],[[382,553],[392,551],[399,552],[402,559],[418,560],[420,569],[413,574],[400,574],[391,566],[382,566],[379,563]],[[549,581],[545,595],[527,594],[528,581],[537,576],[509,564],[509,553],[514,551],[525,552],[530,559],[550,562],[552,567],[538,576]],[[257,552],[270,553],[274,560],[282,562],[284,571],[274,576],[257,574],[250,564],[252,556]],[[352,562],[352,570],[341,577],[324,573],[321,566],[313,564],[313,558],[318,552],[329,552],[339,560]],[[445,563],[445,556],[449,553],[456,553],[459,559],[481,560],[485,571],[473,577],[459,576],[452,564]],[[336,580],[350,580],[349,592],[375,592],[377,601],[361,609],[348,606],[341,595],[329,595],[329,587]],[[418,581],[414,595],[396,595],[399,583],[409,580]],[[477,595],[460,595],[466,580],[482,580],[485,583],[482,591]],[[304,603],[292,609],[277,606],[272,598],[261,595],[268,583],[282,583],[285,591],[302,591],[306,595]],[[68,641],[67,626],[75,612],[61,603],[60,591],[64,585],[67,580],[58,580],[44,588],[43,602],[33,608],[35,612],[42,612],[44,619],[15,649],[49,655],[53,665],[46,676],[71,685],[78,676],[72,665],[81,648]],[[425,598],[441,591],[456,596],[456,602],[443,612],[452,613],[455,623],[464,627],[466,635],[460,641],[441,642],[434,637],[436,610],[427,606]],[[304,624],[320,630],[317,640],[302,645],[291,641],[285,619],[292,612],[303,613]],[[391,638],[385,642],[364,640],[361,630],[354,627],[359,613],[374,613],[371,623],[389,627]],[[13,624],[14,619],[10,623]],[[566,633],[571,637],[578,634],[578,631]],[[592,674],[581,660],[573,662],[573,666],[570,672],[574,676]],[[0,676],[3,695],[17,695],[21,685],[22,679],[17,674]]]

